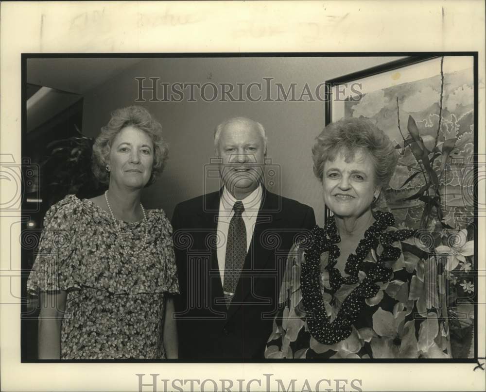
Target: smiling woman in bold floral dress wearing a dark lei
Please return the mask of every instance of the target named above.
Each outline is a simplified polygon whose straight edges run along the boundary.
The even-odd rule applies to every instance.
[[[312,148],[333,212],[291,250],[266,358],[450,358],[447,310],[429,249],[373,211],[398,161],[363,119],[331,123]]]

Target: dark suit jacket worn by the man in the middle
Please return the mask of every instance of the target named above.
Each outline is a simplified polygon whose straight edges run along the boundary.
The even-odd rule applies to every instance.
[[[229,308],[217,260],[222,190],[178,204],[174,251],[180,296],[180,359],[262,359],[277,312],[285,260],[299,233],[315,226],[311,207],[263,188],[251,244]]]

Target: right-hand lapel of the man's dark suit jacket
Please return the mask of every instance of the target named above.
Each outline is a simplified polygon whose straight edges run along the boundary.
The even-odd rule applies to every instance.
[[[243,278],[240,276],[238,281],[235,296],[228,309],[228,319],[244,303],[244,299],[250,293],[252,284],[255,285],[270,256],[275,252],[274,247],[271,246],[271,238],[267,237],[267,234],[270,234],[267,230],[275,228],[276,222],[281,220],[278,197],[278,195],[272,194],[263,188],[261,207],[255,222],[250,247],[243,264]]]

